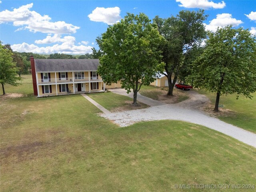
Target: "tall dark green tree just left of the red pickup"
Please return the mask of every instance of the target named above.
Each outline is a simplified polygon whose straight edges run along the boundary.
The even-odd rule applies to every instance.
[[[184,68],[184,53],[198,46],[206,37],[203,21],[207,18],[204,10],[182,10],[170,18],[154,18],[159,33],[164,37],[160,46],[162,61],[165,63],[166,77],[168,78],[168,93],[173,95],[173,88]]]

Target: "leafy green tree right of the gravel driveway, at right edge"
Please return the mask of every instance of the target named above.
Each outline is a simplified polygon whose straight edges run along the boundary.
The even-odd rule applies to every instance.
[[[214,111],[220,95],[243,94],[251,98],[256,91],[256,39],[248,30],[231,26],[208,34],[206,48],[194,62],[194,85],[216,92]]]

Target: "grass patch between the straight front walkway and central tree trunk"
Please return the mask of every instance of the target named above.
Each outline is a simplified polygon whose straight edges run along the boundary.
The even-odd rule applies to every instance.
[[[133,99],[128,96],[114,94],[112,92],[106,93],[91,93],[87,94],[90,98],[107,110],[128,110],[128,109],[141,109],[149,107],[148,105],[138,102],[140,106],[132,106]]]

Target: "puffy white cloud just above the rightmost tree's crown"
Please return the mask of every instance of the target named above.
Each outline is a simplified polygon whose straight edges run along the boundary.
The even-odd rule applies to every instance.
[[[232,18],[232,14],[228,13],[222,13],[217,14],[217,17],[210,21],[210,24],[204,24],[206,30],[210,31],[216,31],[218,27],[224,27],[228,25],[232,26],[238,26],[239,24],[242,24],[243,22],[241,20],[236,20],[235,18]]]

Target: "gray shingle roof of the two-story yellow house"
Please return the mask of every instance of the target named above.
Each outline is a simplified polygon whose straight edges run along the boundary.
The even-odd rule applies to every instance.
[[[100,65],[98,59],[34,59],[36,72],[93,71]]]

